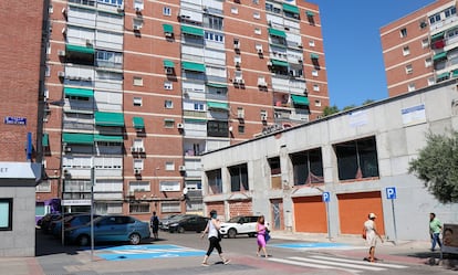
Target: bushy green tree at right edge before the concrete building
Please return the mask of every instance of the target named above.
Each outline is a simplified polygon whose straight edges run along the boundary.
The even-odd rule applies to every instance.
[[[426,136],[426,146],[409,162],[408,171],[424,181],[441,203],[458,202],[458,131]]]

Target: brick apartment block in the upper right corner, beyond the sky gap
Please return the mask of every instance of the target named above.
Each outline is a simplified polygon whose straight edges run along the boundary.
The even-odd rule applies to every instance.
[[[381,28],[388,95],[458,76],[456,1],[436,0]]]

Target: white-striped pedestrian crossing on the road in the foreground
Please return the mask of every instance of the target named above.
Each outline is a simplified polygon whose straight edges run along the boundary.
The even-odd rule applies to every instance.
[[[321,255],[311,255],[308,257],[287,257],[287,258],[268,258],[271,262],[290,264],[295,266],[303,266],[320,269],[340,269],[353,274],[362,272],[382,272],[387,269],[407,268],[405,265],[387,264],[387,263],[368,263],[364,261],[356,261],[350,258],[339,258]]]

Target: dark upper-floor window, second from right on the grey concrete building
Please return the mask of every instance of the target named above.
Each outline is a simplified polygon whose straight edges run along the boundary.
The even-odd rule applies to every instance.
[[[294,186],[323,183],[323,158],[321,148],[290,155],[293,165]]]

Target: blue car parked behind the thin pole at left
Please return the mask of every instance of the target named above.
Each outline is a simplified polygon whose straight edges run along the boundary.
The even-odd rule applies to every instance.
[[[139,244],[149,237],[149,223],[129,215],[102,215],[93,221],[94,242],[129,242]],[[91,223],[64,230],[65,242],[87,246]]]

